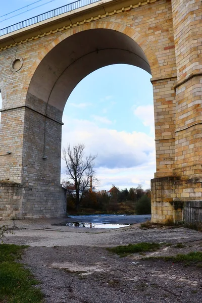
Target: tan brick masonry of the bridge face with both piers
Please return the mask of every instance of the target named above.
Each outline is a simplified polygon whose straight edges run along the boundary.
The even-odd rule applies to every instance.
[[[180,209],[172,204],[173,199],[201,196],[199,182],[194,179],[195,174],[197,180],[201,177],[201,76],[188,79],[192,73],[201,71],[201,2],[150,2],[100,20],[78,22],[77,26],[62,31],[53,28],[52,33],[0,52],[0,89],[5,110],[0,152],[12,151],[11,155],[0,157],[0,179],[22,185],[19,217],[64,213],[60,186],[62,112],[29,94],[28,88],[40,62],[58,43],[94,28],[116,30],[129,36],[142,48],[151,68],[157,153],[157,179],[151,182],[153,219],[179,219]],[[11,62],[17,57],[23,59],[23,65],[18,72],[12,72]],[[181,83],[184,79],[187,82]],[[15,192],[16,187],[11,188]],[[4,209],[8,200],[4,199],[6,193],[1,193],[8,186],[2,184],[0,189],[0,204]],[[10,205],[15,205],[11,194],[9,199]],[[16,216],[14,211],[5,214]]]

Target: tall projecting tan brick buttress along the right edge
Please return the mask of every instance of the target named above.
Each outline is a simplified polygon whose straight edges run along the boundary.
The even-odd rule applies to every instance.
[[[181,200],[201,199],[202,47],[201,1],[172,1],[176,52],[176,141],[174,175]]]

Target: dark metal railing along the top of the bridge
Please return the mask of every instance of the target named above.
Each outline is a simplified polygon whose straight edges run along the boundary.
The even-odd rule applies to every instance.
[[[47,20],[49,18],[53,18],[53,17],[59,16],[59,15],[62,15],[64,13],[71,12],[73,10],[82,8],[86,5],[89,5],[89,4],[92,4],[92,3],[95,3],[95,2],[99,2],[99,1],[100,0],[78,0],[78,1],[75,1],[75,2],[72,2],[72,3],[69,3],[69,4],[64,5],[60,8],[57,8],[55,10],[43,13],[41,15],[32,17],[32,18],[24,20],[22,22],[19,22],[19,23],[10,25],[8,27],[5,27],[3,29],[0,29],[0,36],[9,34],[11,32],[14,32],[14,31],[18,30],[18,29],[36,24],[38,22]]]

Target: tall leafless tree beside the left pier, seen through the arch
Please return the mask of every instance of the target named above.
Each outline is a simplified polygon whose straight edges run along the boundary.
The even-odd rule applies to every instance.
[[[85,190],[90,188],[91,178],[92,183],[96,180],[94,171],[94,160],[97,155],[84,156],[84,144],[70,145],[63,148],[62,159],[66,163],[66,175],[68,180],[64,181],[67,193],[75,203],[76,209],[82,201]]]

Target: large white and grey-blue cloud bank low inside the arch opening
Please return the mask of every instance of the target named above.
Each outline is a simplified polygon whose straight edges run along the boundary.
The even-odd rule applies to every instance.
[[[99,188],[112,183],[148,188],[155,172],[155,141],[143,132],[126,132],[100,128],[87,120],[63,117],[62,145],[84,143],[86,154],[97,154],[95,168]],[[64,165],[64,164],[62,164]]]

